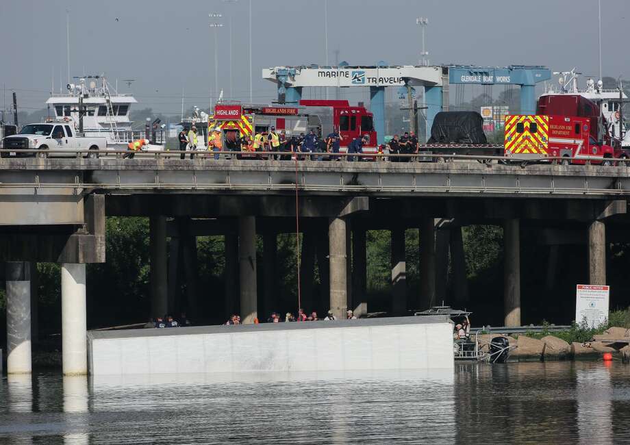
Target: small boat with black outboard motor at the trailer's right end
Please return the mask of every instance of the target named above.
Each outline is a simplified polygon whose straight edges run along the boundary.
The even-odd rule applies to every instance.
[[[460,309],[453,309],[450,306],[433,306],[422,312],[415,312],[415,316],[445,315],[448,316],[453,325],[457,325],[466,320],[472,312]],[[468,325],[470,328],[470,325]],[[505,363],[509,358],[509,351],[516,346],[510,346],[507,338],[497,335],[490,342],[479,338],[479,332],[470,334],[466,332],[466,337],[458,338],[457,332],[453,330],[453,356],[456,362],[479,362]]]

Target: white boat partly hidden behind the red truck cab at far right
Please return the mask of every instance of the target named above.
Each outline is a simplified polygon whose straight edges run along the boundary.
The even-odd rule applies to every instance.
[[[622,148],[630,149],[630,133],[627,131],[627,125],[623,125],[620,122],[620,105],[622,102],[627,101],[623,90],[619,88],[604,89],[603,84],[600,81],[595,82],[594,79],[588,77],[586,79],[586,88],[579,88],[578,78],[580,73],[576,73],[575,68],[571,71],[556,72],[554,75],[558,75],[558,86],[553,84],[547,84],[545,92],[541,96],[555,95],[555,94],[579,94],[586,99],[594,101],[600,105],[601,113],[605,118],[608,125],[609,136],[613,138],[619,138],[620,134],[623,136],[621,145]],[[624,122],[627,118],[623,118]],[[622,133],[620,133],[622,131]]]

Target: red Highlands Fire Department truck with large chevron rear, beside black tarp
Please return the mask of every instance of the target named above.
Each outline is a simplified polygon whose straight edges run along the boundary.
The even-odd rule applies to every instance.
[[[505,156],[562,157],[562,164],[614,165],[614,149],[598,144],[591,118],[517,114],[505,116]]]

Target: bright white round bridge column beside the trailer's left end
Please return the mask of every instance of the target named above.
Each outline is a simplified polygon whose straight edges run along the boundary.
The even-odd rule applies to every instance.
[[[64,375],[88,373],[86,265],[61,265],[62,361]]]

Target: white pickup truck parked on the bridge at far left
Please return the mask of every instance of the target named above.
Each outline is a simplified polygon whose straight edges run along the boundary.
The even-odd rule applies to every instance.
[[[20,133],[3,138],[0,149],[10,150],[2,157],[76,157],[77,150],[90,150],[95,153],[84,153],[84,157],[96,158],[97,150],[107,149],[107,140],[76,136],[69,123],[29,124]],[[30,152],[25,153],[27,150]]]

